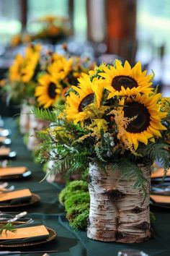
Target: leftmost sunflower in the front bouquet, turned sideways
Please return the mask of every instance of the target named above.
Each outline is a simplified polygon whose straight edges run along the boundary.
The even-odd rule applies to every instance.
[[[66,114],[68,120],[73,120],[74,124],[87,119],[84,108],[94,103],[99,108],[102,101],[103,84],[102,80],[94,79],[90,81],[87,74],[82,74],[79,78],[79,86],[72,86],[76,93],[71,92],[66,98]]]

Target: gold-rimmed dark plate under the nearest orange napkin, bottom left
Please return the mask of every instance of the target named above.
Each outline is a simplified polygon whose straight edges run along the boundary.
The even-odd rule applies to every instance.
[[[20,224],[20,223],[19,223]],[[53,239],[55,239],[55,237],[57,236],[57,234],[55,233],[55,231],[53,229],[50,229],[48,227],[46,227],[46,229],[49,232],[49,236],[48,238],[41,240],[41,241],[32,241],[32,242],[25,242],[25,243],[17,243],[17,244],[0,244],[0,248],[1,247],[10,247],[10,248],[15,248],[15,247],[28,247],[28,246],[35,246],[35,245],[39,245],[39,244],[44,244],[47,242],[52,241]]]

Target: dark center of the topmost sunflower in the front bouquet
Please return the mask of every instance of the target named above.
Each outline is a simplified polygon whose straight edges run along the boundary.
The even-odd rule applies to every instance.
[[[125,89],[132,89],[138,87],[138,82],[136,82],[133,77],[128,77],[126,75],[119,75],[117,77],[114,77],[112,80],[112,87],[120,92],[121,86]]]

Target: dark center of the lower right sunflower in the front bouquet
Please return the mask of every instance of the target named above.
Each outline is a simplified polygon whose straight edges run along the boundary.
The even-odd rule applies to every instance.
[[[125,104],[124,116],[132,118],[137,116],[133,121],[130,121],[127,127],[127,132],[138,133],[145,131],[150,124],[150,114],[148,108],[141,103],[133,102]]]

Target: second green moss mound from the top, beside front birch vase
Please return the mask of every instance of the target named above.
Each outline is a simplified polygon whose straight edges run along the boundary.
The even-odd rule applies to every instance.
[[[90,202],[89,192],[77,192],[71,197],[68,197],[65,201],[65,208],[68,211],[69,208],[73,207],[73,205],[81,205],[83,203]]]

